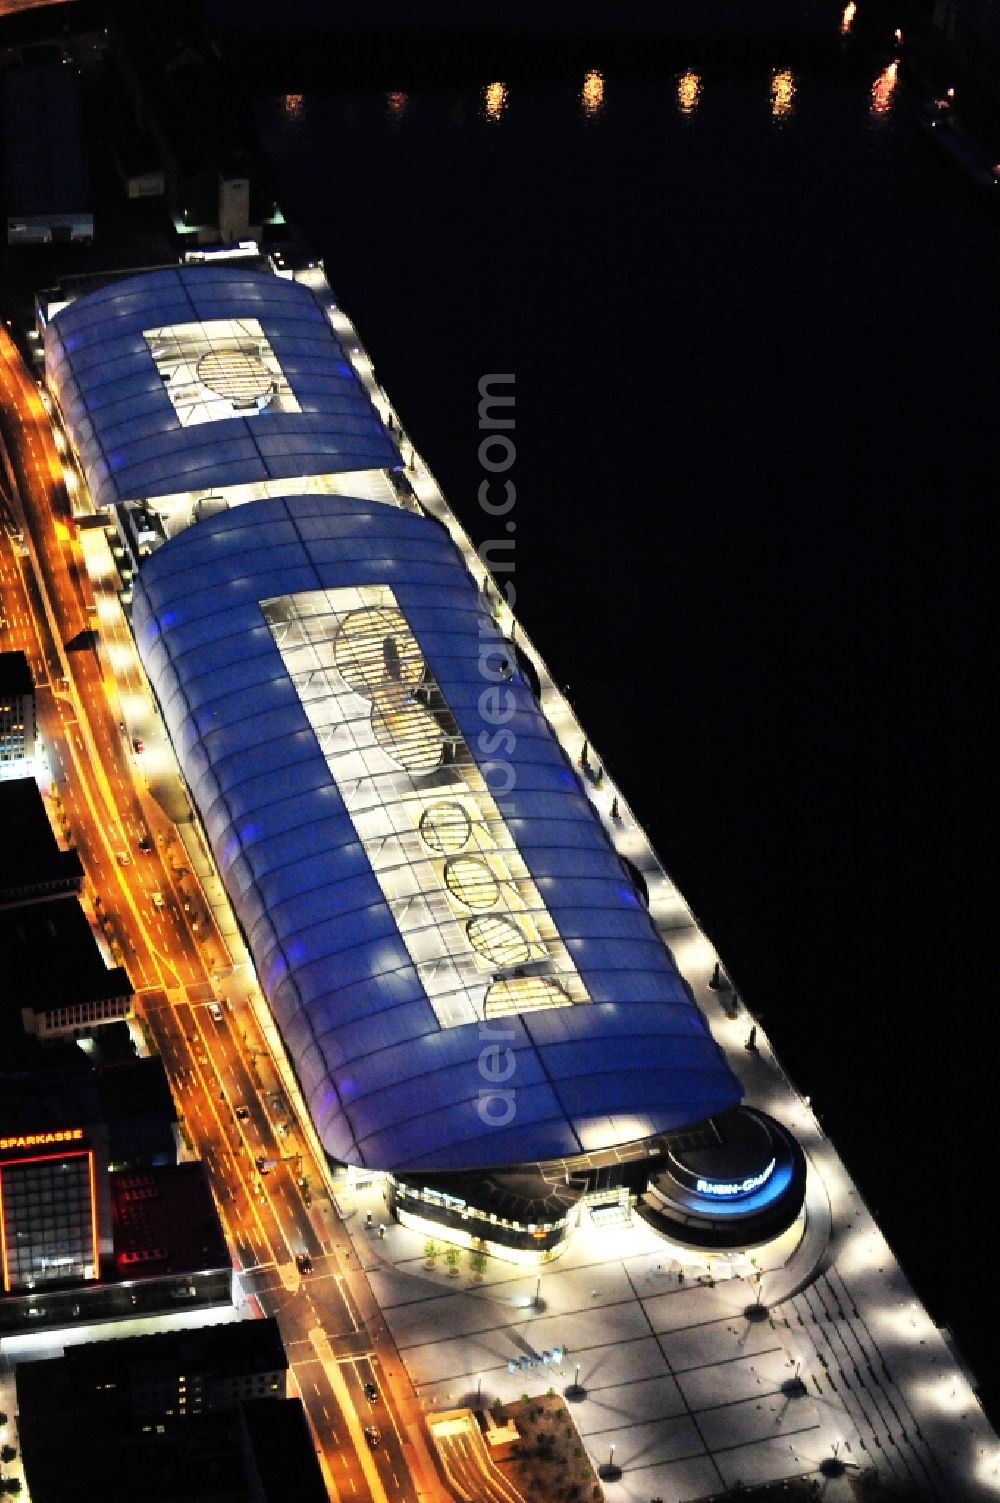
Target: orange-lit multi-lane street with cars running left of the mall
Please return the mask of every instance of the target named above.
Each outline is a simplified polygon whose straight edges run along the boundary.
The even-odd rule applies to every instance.
[[[322,1446],[328,1477],[341,1495],[374,1503],[383,1497],[415,1498],[412,1461],[403,1449],[412,1452],[412,1441],[397,1408],[400,1401],[414,1405],[402,1366],[394,1384],[397,1401],[391,1390],[385,1392],[382,1357],[374,1356],[358,1317],[343,1255],[332,1250],[329,1205],[310,1145],[295,1133],[284,1102],[280,1111],[268,1105],[280,1093],[275,1082],[265,1096],[268,1052],[245,1004],[247,987],[233,993],[218,974],[224,947],[203,899],[197,905],[198,930],[191,927],[195,915],[185,909],[182,894],[194,888],[180,884],[176,863],[167,855],[173,830],[147,791],[146,753],[135,753],[131,735],[120,729],[125,712],[135,724],[141,715],[152,718],[152,706],[125,645],[117,603],[114,613],[105,606],[96,651],[90,645],[66,646],[90,630],[98,610],[81,567],[53,430],[6,331],[0,334],[0,395],[2,431],[20,491],[14,510],[20,514],[24,507],[32,558],[41,562],[41,591],[48,604],[39,609],[41,591],[30,561],[5,537],[0,595],[8,625],[2,628],[2,645],[26,651],[36,673],[39,729],[66,831],[84,864],[86,891],[111,954],[120,954],[135,984],[138,1024],[164,1060],[183,1136],[208,1163],[235,1263],[242,1270],[242,1297],[262,1314],[280,1318],[293,1381]],[[102,651],[114,652],[113,666],[102,664]],[[143,852],[138,840],[146,831],[155,839]],[[126,866],[119,863],[119,851],[128,854]],[[153,893],[164,894],[162,908],[153,903]],[[221,971],[232,981],[230,968]],[[224,1006],[221,1021],[209,1012],[217,998]],[[236,1106],[247,1108],[247,1120],[236,1118]],[[283,1136],[277,1135],[278,1123],[287,1124]],[[262,1174],[257,1157],[274,1160],[274,1168]],[[317,1192],[310,1207],[299,1181]],[[305,1276],[296,1270],[301,1254],[313,1260],[313,1272]],[[368,1381],[379,1384],[374,1405],[364,1396]],[[382,1431],[374,1453],[361,1434],[373,1414]]]

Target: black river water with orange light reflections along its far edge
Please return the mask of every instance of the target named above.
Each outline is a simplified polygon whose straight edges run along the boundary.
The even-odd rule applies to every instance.
[[[477,541],[516,376],[519,615],[994,1401],[1000,203],[877,47],[260,123]]]

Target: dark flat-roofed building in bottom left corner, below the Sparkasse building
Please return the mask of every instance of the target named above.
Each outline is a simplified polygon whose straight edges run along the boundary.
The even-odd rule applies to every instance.
[[[18,1429],[35,1503],[325,1503],[286,1372],[274,1320],[93,1342],[20,1363]]]

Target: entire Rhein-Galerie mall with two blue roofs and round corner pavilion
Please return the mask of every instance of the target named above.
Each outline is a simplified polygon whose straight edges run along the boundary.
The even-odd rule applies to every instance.
[[[746,1247],[802,1153],[741,1087],[322,271],[39,305],[45,379],[316,1133],[400,1219],[550,1257],[580,1208]],[[498,479],[498,494],[502,482]]]

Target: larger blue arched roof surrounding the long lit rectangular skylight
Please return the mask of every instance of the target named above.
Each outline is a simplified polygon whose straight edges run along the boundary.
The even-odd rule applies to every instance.
[[[406,622],[394,637],[402,648],[376,639],[377,661],[343,652],[350,627],[340,601],[365,591],[391,592]],[[377,1169],[505,1165],[635,1142],[734,1106],[738,1081],[517,673],[502,688],[511,696],[504,752],[513,788],[498,795],[526,869],[510,884],[511,903],[534,893],[544,905],[559,941],[549,950],[585,999],[570,1006],[567,992],[564,1006],[442,1025],[439,999],[421,980],[433,966],[414,960],[414,947],[435,938],[433,923],[409,933],[405,915],[414,905],[441,914],[447,894],[414,897],[400,887],[386,897],[386,881],[411,869],[386,876],[395,837],[376,840],[380,809],[358,812],[362,779],[341,786],[331,774],[350,727],[334,705],[326,727],[314,729],[329,700],[307,705],[319,667],[319,678],[290,675],[281,646],[289,601],[325,603],[341,622],[341,636],[317,649],[317,663],[326,652],[332,664],[322,670],[326,682],[353,675],[371,693],[362,663],[388,675],[397,709],[406,700],[418,721],[430,711],[453,717],[445,764],[414,774],[392,806],[397,822],[403,810],[412,824],[420,800],[438,797],[421,792],[435,779],[457,777],[448,759],[459,738],[486,767],[490,742],[480,736],[496,721],[483,709],[480,649],[498,639],[444,529],[368,500],[253,502],[179,534],[140,570],[138,651],[326,1150]],[[402,741],[382,744],[397,752]],[[471,890],[466,897],[478,900]],[[511,1115],[490,1126],[486,1118],[507,1115],[496,1102],[483,1106],[498,1091],[513,1093]]]

